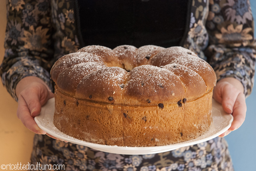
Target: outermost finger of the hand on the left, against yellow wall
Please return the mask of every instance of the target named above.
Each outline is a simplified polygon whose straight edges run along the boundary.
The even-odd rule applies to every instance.
[[[45,131],[43,131],[38,127],[34,118],[30,116],[30,111],[28,109],[28,106],[21,95],[19,96],[17,117],[21,120],[23,125],[26,126],[30,131],[36,134],[46,134]]]

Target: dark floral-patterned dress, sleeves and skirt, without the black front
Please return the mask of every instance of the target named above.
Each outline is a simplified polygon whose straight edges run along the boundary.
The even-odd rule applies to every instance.
[[[3,85],[18,100],[15,88],[26,76],[37,76],[54,91],[49,70],[65,54],[83,47],[77,1],[7,0]],[[207,60],[217,79],[234,77],[252,92],[256,44],[249,0],[190,0],[182,46]],[[64,164],[79,171],[232,171],[225,139],[165,153],[120,155],[35,135],[31,164]],[[64,170],[64,169],[63,169]]]

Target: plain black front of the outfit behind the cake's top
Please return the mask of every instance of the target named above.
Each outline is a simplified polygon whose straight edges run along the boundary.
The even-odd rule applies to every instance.
[[[188,0],[78,0],[85,46],[179,46]]]

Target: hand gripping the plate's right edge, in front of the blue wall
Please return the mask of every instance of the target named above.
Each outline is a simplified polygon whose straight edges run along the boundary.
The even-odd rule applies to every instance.
[[[214,87],[213,98],[222,105],[225,112],[234,117],[230,128],[219,135],[219,137],[224,137],[231,131],[238,129],[245,121],[247,107],[244,87],[236,78],[223,78]]]

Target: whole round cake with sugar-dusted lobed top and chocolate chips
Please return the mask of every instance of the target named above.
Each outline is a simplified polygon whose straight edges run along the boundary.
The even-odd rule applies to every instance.
[[[212,123],[216,75],[193,51],[86,46],[56,61],[54,125],[97,144],[159,146],[194,139]]]

